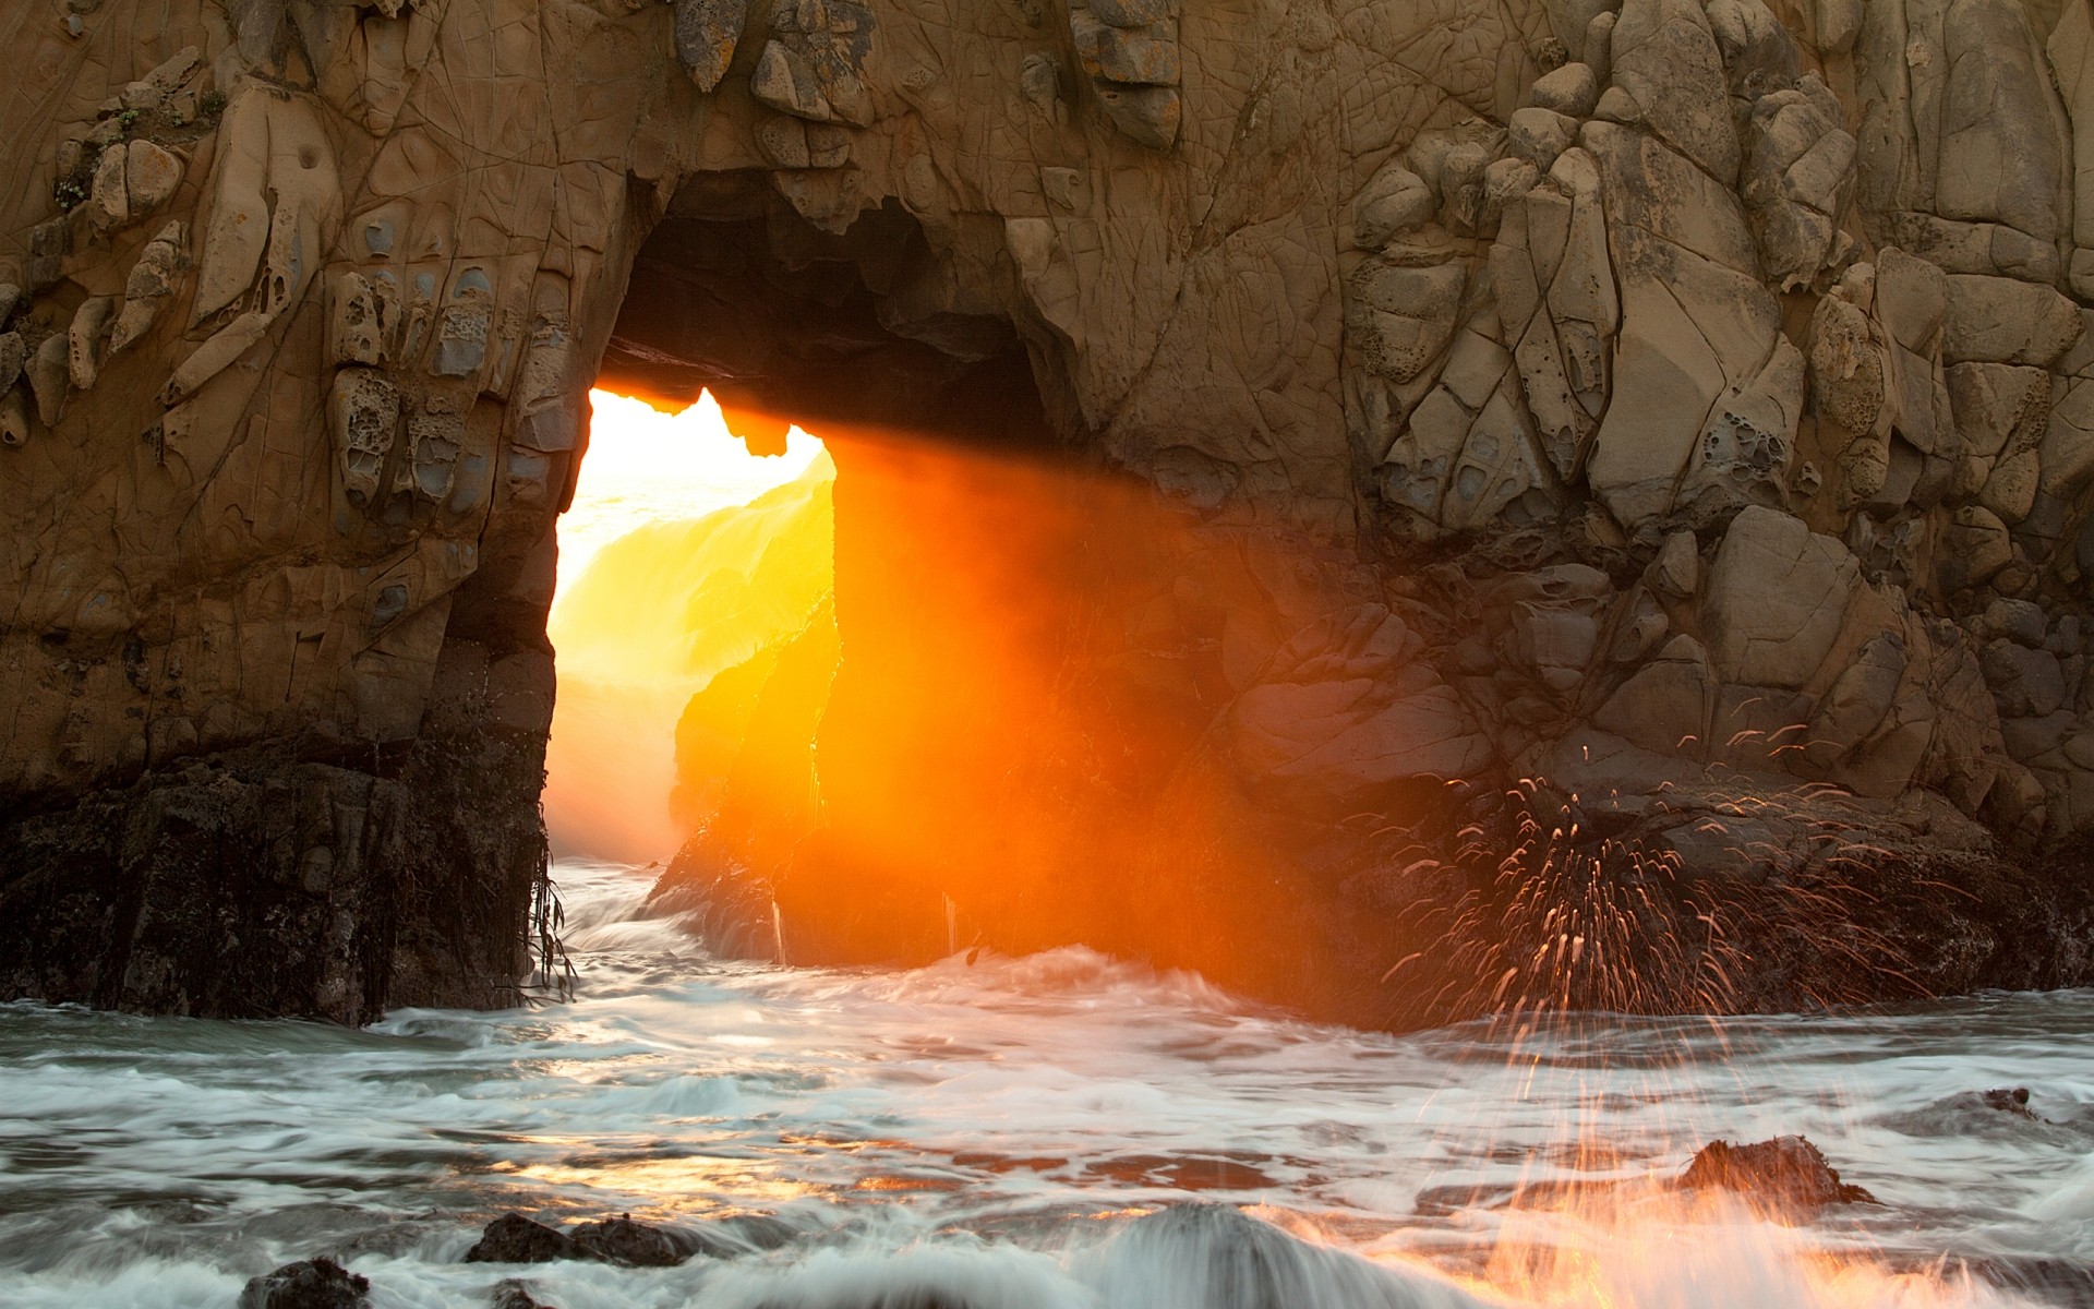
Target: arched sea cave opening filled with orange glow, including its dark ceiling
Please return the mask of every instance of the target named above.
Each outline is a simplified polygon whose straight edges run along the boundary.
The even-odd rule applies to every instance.
[[[758,957],[1085,945],[1302,995],[1298,827],[1212,748],[1296,561],[1110,467],[988,237],[741,174],[651,228],[561,526],[555,852],[664,861]],[[641,402],[685,411],[653,452]],[[739,503],[676,522],[699,448]]]

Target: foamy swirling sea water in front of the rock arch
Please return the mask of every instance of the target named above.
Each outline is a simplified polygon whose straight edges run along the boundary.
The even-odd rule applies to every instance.
[[[381,1309],[505,1278],[561,1309],[2094,1301],[2094,993],[1393,1037],[1083,949],[725,961],[647,917],[647,873],[557,875],[565,1003],[369,1030],[0,1005],[0,1305],[230,1309],[314,1255]],[[2014,1085],[2037,1121],[1975,1095]],[[1782,1133],[1883,1204],[1656,1181]],[[1537,1183],[1594,1185],[1506,1202]],[[463,1263],[511,1208],[722,1252]]]

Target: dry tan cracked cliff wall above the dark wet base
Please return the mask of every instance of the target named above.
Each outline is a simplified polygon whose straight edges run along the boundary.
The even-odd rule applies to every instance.
[[[1380,568],[1409,637],[1367,689],[1217,708],[1252,779],[1602,758],[2077,829],[2090,31],[2084,0],[13,6],[0,796],[413,754],[446,668],[475,750],[542,744],[582,394],[670,216],[781,268],[856,243],[903,400],[1007,323],[1064,444]],[[1305,641],[1355,630],[1330,609]]]

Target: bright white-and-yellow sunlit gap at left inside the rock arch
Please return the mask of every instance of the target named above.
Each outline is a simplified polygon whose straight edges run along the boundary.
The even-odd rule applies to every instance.
[[[591,402],[547,624],[559,702],[544,813],[555,852],[645,863],[689,836],[668,802],[691,695],[827,595],[833,469],[798,427],[785,454],[750,454],[710,394],[681,415]]]

